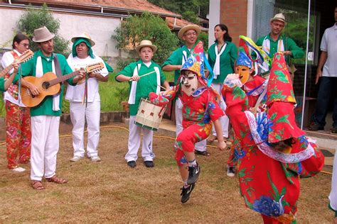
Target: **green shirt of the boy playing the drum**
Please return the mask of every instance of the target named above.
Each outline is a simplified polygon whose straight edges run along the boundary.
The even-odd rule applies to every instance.
[[[160,83],[161,85],[164,84],[164,81],[166,80],[166,78],[163,72],[161,71],[161,67],[159,67],[159,65],[157,65],[153,61],[151,61],[151,65],[149,67],[146,67],[146,65],[144,65],[144,63],[141,60],[139,60],[138,62],[133,62],[127,65],[127,67],[124,67],[124,69],[116,75],[115,79],[119,76],[119,74],[124,74],[127,77],[132,77],[134,74],[134,69],[137,67],[137,64],[141,65],[138,71],[139,76],[141,76],[142,74],[146,74],[148,72],[153,72],[154,67],[158,67],[159,72],[160,72]],[[139,103],[140,103],[141,98],[149,98],[149,94],[151,92],[156,92],[156,89],[157,89],[156,75],[157,75],[156,72],[154,72],[152,74],[146,75],[145,77],[141,77],[141,79],[138,80],[137,90],[136,90],[136,99],[134,101],[134,104],[129,105],[130,116],[137,115],[137,111],[139,108]],[[117,80],[117,82],[119,81]],[[132,82],[129,82],[130,90],[131,90],[131,84]]]

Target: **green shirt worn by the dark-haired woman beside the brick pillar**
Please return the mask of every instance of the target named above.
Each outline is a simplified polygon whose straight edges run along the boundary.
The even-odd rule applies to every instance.
[[[215,46],[218,43],[214,43],[208,49],[208,62],[210,63],[210,67],[213,69],[215,65]],[[227,42],[225,50],[220,55],[220,74],[218,75],[217,79],[213,79],[213,83],[220,83],[223,84],[225,78],[228,74],[234,72],[234,64],[237,58],[237,47],[234,43]]]

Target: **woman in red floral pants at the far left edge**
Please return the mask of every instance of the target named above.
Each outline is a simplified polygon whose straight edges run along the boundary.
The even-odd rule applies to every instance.
[[[12,43],[13,50],[5,52],[2,57],[2,67],[11,65],[20,55],[29,49],[29,39],[18,33]],[[5,75],[9,79],[14,72],[11,69]],[[23,81],[25,82],[25,81]],[[14,172],[24,172],[20,164],[26,164],[31,159],[31,116],[28,107],[18,101],[18,85],[11,84],[4,93],[6,105],[6,147],[8,168]]]

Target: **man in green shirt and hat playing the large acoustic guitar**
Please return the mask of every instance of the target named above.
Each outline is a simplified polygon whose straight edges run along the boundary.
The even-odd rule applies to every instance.
[[[54,36],[45,26],[34,30],[33,41],[38,43],[40,50],[34,53],[33,59],[21,65],[23,77],[43,77],[46,72],[55,73],[58,67],[62,75],[73,72],[63,55],[53,53]],[[56,57],[58,63],[55,62]],[[70,85],[75,85],[84,77],[85,72],[80,71],[76,77],[68,79],[67,82]],[[16,80],[18,79],[17,76]],[[33,96],[41,93],[41,89],[29,82],[22,82],[22,85],[28,88]],[[61,84],[58,95],[46,96],[38,106],[31,108],[31,184],[36,190],[44,189],[41,182],[43,176],[47,181],[56,184],[65,184],[68,181],[55,174],[63,89],[64,86]]]

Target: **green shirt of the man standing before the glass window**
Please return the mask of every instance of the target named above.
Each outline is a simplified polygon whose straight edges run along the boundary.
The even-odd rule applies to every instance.
[[[283,40],[283,45],[284,45],[284,51],[291,51],[291,58],[301,58],[304,57],[304,50],[297,46],[295,41],[292,40],[291,38],[287,38],[283,35],[279,35],[279,39],[282,38]],[[272,38],[270,38],[270,33],[268,35],[265,35],[259,39],[257,39],[256,45],[257,46],[262,46],[263,40],[264,39],[268,39],[270,40],[270,52],[269,52],[269,57],[271,59],[273,59],[274,54],[277,52],[278,50],[278,43],[279,43],[279,39],[277,40],[272,40]],[[289,56],[286,56],[286,61],[287,61],[287,65],[289,65],[290,59]]]

